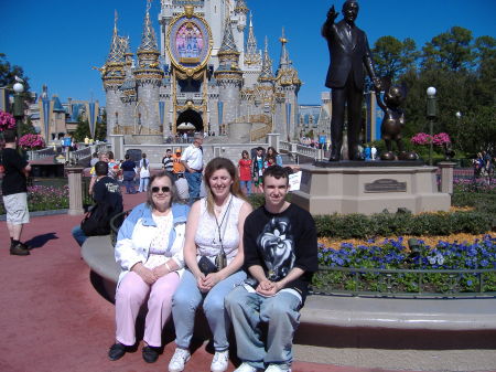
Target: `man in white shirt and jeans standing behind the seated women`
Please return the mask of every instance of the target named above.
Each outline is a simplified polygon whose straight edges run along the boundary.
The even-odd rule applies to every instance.
[[[193,144],[186,147],[181,157],[181,162],[185,168],[184,176],[186,177],[190,204],[193,204],[200,199],[200,185],[202,184],[203,171],[203,136],[196,134]]]

